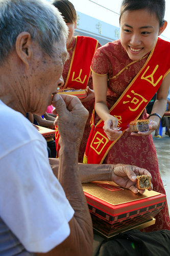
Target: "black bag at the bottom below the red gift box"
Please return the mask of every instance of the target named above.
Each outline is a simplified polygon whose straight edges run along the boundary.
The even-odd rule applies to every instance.
[[[93,256],[169,256],[170,231],[132,229],[106,240],[94,233]]]

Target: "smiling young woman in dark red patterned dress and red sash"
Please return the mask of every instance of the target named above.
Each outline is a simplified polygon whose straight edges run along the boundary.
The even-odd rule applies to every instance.
[[[154,190],[165,194],[152,132],[163,116],[170,84],[170,42],[158,36],[166,28],[164,0],[124,0],[120,39],[97,49],[92,63],[95,116],[84,163],[126,163],[147,168]],[[152,112],[145,106],[157,92]],[[149,131],[130,133],[135,119],[152,120]],[[167,202],[146,230],[170,229]]]

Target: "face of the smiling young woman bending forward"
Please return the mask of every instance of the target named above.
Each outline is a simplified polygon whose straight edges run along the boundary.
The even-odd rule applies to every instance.
[[[150,52],[160,34],[158,18],[146,9],[126,11],[120,19],[120,41],[132,60]]]

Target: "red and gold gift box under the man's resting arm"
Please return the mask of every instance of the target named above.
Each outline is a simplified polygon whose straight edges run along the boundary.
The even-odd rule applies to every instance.
[[[154,217],[165,204],[166,196],[153,190],[146,189],[142,195],[134,194],[108,181],[84,183],[82,186],[93,228],[107,238],[141,225],[153,225]]]

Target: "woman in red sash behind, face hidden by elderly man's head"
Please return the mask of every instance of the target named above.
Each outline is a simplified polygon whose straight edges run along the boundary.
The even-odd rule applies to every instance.
[[[89,117],[85,126],[79,151],[79,162],[83,162],[83,155],[85,152],[88,135],[90,133],[90,118],[94,107],[94,92],[90,64],[95,50],[101,45],[99,44],[98,40],[92,37],[74,36],[74,31],[77,27],[77,13],[74,5],[72,5],[71,2],[68,0],[56,0],[52,3],[61,12],[69,30],[69,35],[66,42],[69,58],[64,65],[62,73],[64,85],[60,89],[87,88],[87,97],[81,99],[81,102],[89,112]],[[57,157],[59,148],[59,132],[56,126]]]

